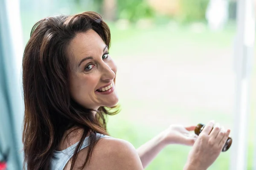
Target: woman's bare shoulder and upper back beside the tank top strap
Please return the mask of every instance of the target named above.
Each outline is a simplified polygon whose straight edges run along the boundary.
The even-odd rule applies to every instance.
[[[88,148],[85,148],[79,152],[78,164],[84,162],[87,151]],[[84,170],[143,170],[143,166],[131,143],[122,139],[102,138]]]

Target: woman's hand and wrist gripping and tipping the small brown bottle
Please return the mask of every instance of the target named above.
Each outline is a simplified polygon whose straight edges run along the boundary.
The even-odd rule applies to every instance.
[[[207,170],[218,158],[230,134],[217,123],[209,122],[199,134],[192,150],[189,153],[184,170]]]

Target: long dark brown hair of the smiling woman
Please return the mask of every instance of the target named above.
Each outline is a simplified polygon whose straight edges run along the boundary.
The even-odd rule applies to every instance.
[[[69,93],[67,47],[77,33],[96,31],[108,47],[108,25],[95,12],[44,18],[32,28],[23,55],[23,93],[25,103],[23,144],[27,170],[49,169],[51,156],[64,132],[71,127],[84,129],[72,159],[71,170],[82,142],[90,131],[88,163],[98,141],[96,133],[108,135],[105,116],[119,112],[119,106],[93,111],[79,105]]]

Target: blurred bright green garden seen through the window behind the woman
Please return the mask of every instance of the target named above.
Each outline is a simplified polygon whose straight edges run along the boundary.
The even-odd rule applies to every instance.
[[[33,24],[55,14],[97,11],[111,28],[111,57],[119,68],[116,88],[122,111],[108,118],[111,136],[139,147],[169,125],[214,119],[233,125],[235,73],[233,43],[236,1],[229,1],[223,29],[209,29],[209,0],[20,0],[24,43]],[[254,62],[254,61],[253,61]],[[253,68],[251,87],[256,85]],[[250,113],[256,93],[250,91]],[[250,114],[248,170],[253,159]],[[190,147],[170,145],[146,170],[182,169]],[[230,148],[232,150],[232,147]],[[209,170],[226,170],[230,150]]]

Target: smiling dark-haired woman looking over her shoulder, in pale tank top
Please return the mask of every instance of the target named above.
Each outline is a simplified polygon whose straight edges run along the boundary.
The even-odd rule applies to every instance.
[[[137,150],[108,136],[105,116],[119,112],[110,42],[95,12],[47,17],[33,26],[23,56],[24,168],[143,170],[175,143],[193,145],[184,170],[206,170],[230,133],[219,125],[210,132],[213,122],[198,137],[189,136],[195,126],[171,125]]]

